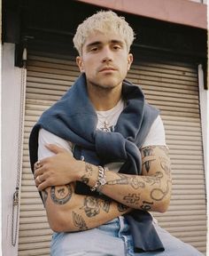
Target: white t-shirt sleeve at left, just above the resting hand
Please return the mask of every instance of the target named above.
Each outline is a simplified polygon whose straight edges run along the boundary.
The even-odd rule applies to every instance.
[[[59,138],[57,135],[48,132],[44,129],[40,129],[38,136],[38,159],[43,159],[48,156],[53,156],[54,153],[45,147],[46,144],[55,144],[60,148],[66,148],[69,152],[72,152],[70,142]],[[73,154],[73,153],[72,153]]]

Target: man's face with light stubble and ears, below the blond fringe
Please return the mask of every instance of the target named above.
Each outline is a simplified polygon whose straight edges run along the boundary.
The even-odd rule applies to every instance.
[[[128,53],[124,39],[111,32],[91,34],[83,45],[82,56],[77,57],[88,85],[103,89],[121,86],[132,61],[133,56]]]

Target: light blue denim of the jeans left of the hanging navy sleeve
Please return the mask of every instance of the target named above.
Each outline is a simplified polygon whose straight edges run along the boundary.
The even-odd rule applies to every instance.
[[[54,233],[51,256],[134,256],[128,222],[116,218],[99,228],[74,233]]]

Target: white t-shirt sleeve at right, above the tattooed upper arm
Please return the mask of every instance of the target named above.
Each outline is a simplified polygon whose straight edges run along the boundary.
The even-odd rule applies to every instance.
[[[151,130],[144,140],[142,148],[147,146],[166,146],[165,129],[160,116],[151,125]]]

